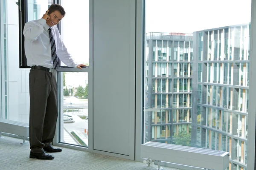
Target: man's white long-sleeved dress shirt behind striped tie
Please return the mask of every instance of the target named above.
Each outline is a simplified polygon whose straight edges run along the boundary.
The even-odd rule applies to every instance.
[[[46,68],[53,68],[48,29],[49,26],[46,20],[42,18],[25,24],[23,35],[25,37],[24,48],[28,66],[40,65]],[[52,26],[52,36],[55,40],[59,59],[67,66],[76,68],[78,64],[67,52],[56,25]]]

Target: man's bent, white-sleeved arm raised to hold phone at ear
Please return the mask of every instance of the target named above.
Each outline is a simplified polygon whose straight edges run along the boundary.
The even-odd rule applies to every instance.
[[[48,12],[49,10],[43,15],[43,17],[38,21],[38,23],[30,21],[25,24],[23,30],[23,35],[25,39],[35,41],[37,40],[38,36],[44,32],[44,24],[50,18]]]

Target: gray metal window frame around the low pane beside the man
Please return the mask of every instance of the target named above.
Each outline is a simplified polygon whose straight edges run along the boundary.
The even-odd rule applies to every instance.
[[[61,4],[61,0],[57,0],[58,4]],[[67,66],[60,66],[58,68],[58,75],[57,75],[57,83],[58,83],[58,117],[60,118],[61,114],[61,105],[62,105],[62,100],[61,96],[63,95],[63,75],[61,72],[78,72],[78,73],[88,73],[88,120],[93,120],[93,0],[89,1],[89,30],[90,30],[90,35],[89,35],[89,63],[90,67],[83,67],[82,70],[79,68],[70,68]],[[58,24],[58,28],[60,30],[60,34],[63,32],[63,27],[62,23]],[[88,129],[90,129],[90,133],[88,133],[88,147],[83,147],[83,146],[78,146],[74,144],[68,144],[61,142],[61,135],[63,135],[62,130],[63,130],[63,122],[61,119],[58,118],[57,121],[57,126],[55,130],[55,136],[53,139],[53,144],[55,146],[59,147],[66,147],[70,149],[75,149],[75,150],[83,150],[83,151],[93,151],[93,121],[88,121]]]

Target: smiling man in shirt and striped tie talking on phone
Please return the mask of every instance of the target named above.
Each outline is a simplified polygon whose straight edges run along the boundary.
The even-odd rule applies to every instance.
[[[30,158],[50,160],[54,156],[49,152],[62,151],[51,145],[58,117],[56,73],[60,60],[73,68],[86,66],[73,60],[61,39],[57,24],[65,14],[62,6],[52,4],[41,19],[24,26],[27,65],[32,67],[29,72]]]

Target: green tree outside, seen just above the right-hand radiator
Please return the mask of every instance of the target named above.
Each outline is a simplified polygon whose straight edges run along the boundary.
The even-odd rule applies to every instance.
[[[174,134],[173,142],[177,145],[191,146],[191,133],[187,133],[183,128],[182,130],[179,130],[178,134]]]

